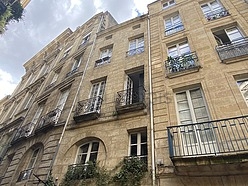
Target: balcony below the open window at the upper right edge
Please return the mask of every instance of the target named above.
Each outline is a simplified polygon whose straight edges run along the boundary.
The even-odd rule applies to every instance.
[[[248,56],[248,37],[217,46],[216,51],[223,63]]]

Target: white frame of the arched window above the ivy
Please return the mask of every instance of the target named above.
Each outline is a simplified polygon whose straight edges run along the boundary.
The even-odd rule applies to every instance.
[[[97,151],[91,152],[93,143],[98,143],[98,149],[97,149]],[[84,145],[87,145],[87,144],[89,144],[87,153],[80,153],[80,148],[81,148],[82,146],[84,146]],[[99,141],[95,141],[95,140],[80,145],[80,146],[78,147],[78,150],[77,150],[77,156],[76,156],[76,159],[75,159],[75,164],[81,164],[82,155],[83,155],[83,154],[86,154],[86,159],[85,159],[84,165],[87,165],[87,162],[90,160],[91,154],[97,153],[97,157],[98,157],[99,148],[100,148],[100,142],[99,142]],[[96,160],[97,160],[97,159],[96,159]]]

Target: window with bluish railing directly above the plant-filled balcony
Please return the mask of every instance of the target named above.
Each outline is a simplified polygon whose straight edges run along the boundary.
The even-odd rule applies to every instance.
[[[170,35],[183,30],[183,24],[179,14],[165,19],[165,35]]]

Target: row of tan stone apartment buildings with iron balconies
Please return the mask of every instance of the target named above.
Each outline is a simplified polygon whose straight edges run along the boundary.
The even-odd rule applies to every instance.
[[[65,30],[1,100],[1,185],[127,156],[147,163],[142,185],[248,185],[247,34],[242,0],[158,0]]]

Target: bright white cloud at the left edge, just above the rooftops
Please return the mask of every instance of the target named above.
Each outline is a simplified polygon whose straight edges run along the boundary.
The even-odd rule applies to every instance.
[[[10,95],[16,86],[17,84],[14,83],[11,74],[0,69],[0,99]]]

